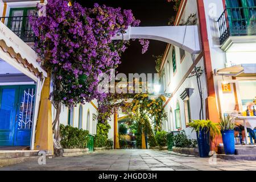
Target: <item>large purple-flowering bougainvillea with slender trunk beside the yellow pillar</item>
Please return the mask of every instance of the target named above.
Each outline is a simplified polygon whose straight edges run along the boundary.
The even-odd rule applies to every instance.
[[[35,32],[35,50],[40,63],[51,74],[53,105],[57,110],[53,121],[54,147],[59,143],[61,104],[76,106],[93,99],[102,101],[106,94],[97,91],[98,75],[117,68],[127,41],[115,40],[128,26],[138,26],[131,10],[121,10],[97,3],[93,8],[65,0],[48,0],[46,16],[30,17]],[[143,52],[148,42],[141,40]]]

